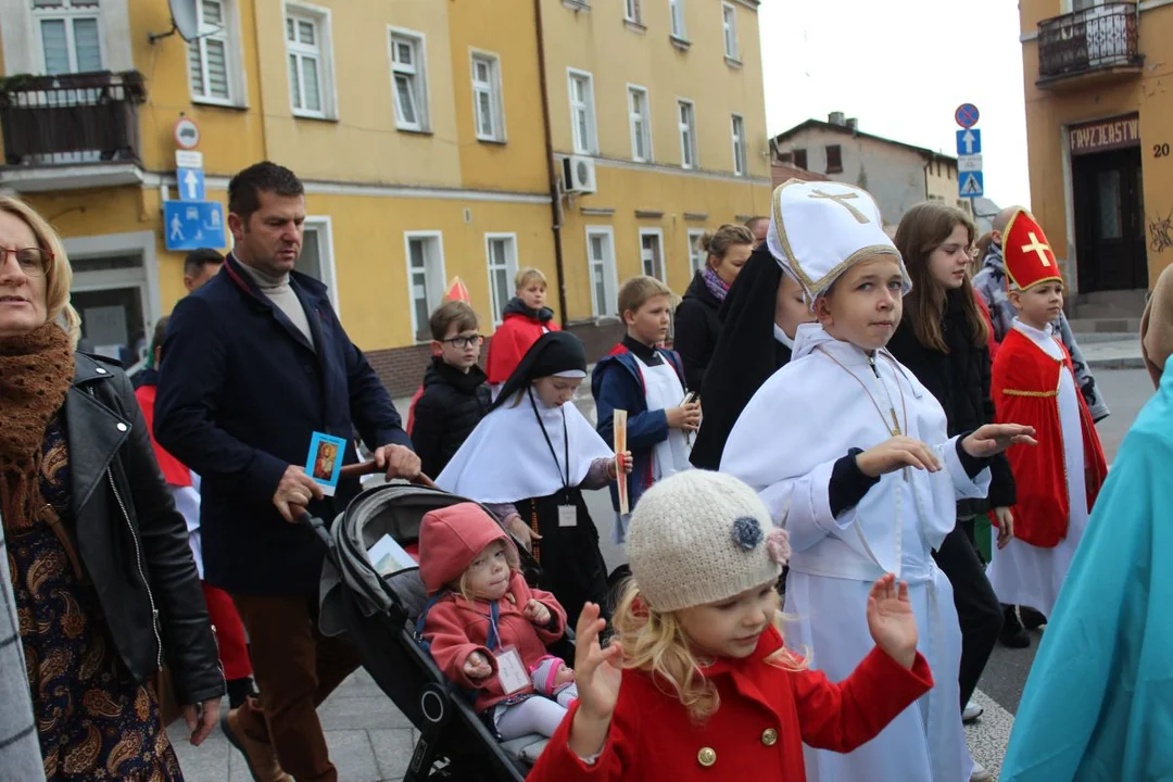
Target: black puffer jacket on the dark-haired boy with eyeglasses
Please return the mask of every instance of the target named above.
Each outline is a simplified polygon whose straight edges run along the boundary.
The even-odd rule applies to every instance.
[[[440,475],[489,412],[493,400],[487,380],[475,365],[465,374],[443,359],[432,359],[412,426],[412,443],[425,475]]]

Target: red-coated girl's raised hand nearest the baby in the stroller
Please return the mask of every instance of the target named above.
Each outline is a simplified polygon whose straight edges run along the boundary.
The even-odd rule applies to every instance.
[[[603,648],[598,635],[606,627],[595,603],[583,606],[575,635],[575,681],[578,684],[578,710],[570,728],[570,749],[579,757],[603,750],[611,715],[619,700],[623,680],[618,644]]]

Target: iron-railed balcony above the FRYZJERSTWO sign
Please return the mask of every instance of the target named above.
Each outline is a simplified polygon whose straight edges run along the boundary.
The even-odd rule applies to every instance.
[[[1058,88],[1139,74],[1135,2],[1106,2],[1038,25],[1038,86]]]

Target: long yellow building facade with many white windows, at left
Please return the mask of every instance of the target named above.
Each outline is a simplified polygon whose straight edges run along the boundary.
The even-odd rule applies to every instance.
[[[83,346],[128,363],[184,293],[185,253],[167,250],[162,211],[187,186],[181,118],[198,127],[206,200],[226,204],[230,177],[260,159],[303,179],[299,270],[330,287],[395,393],[418,382],[427,313],[454,277],[490,333],[515,271],[537,266],[551,306],[589,333],[640,270],[642,236],[659,231],[656,270],[683,292],[697,231],[766,210],[750,0],[638,0],[643,21],[626,23],[623,4],[603,0],[190,5],[199,36],[185,41],[164,35],[156,0],[0,0],[0,189],[66,238]],[[686,35],[670,38],[670,16]],[[582,101],[568,68],[592,74],[589,148],[572,137]],[[646,163],[632,155],[629,82],[650,96]],[[678,97],[696,111],[691,168]],[[560,192],[570,155],[594,169],[592,193]],[[604,229],[612,254],[592,266]],[[603,261],[610,300],[595,302]]]

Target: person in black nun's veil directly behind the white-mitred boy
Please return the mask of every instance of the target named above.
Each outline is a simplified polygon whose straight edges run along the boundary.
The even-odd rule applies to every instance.
[[[719,313],[724,327],[700,389],[705,419],[690,461],[716,470],[730,430],[761,383],[791,360],[794,333],[814,319],[802,288],[762,243],[733,280]]]

